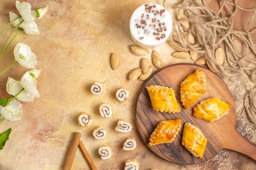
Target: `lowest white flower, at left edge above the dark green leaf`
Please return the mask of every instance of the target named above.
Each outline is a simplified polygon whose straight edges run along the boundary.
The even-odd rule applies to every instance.
[[[0,114],[9,121],[20,120],[22,117],[22,104],[13,99],[7,106],[0,106]]]

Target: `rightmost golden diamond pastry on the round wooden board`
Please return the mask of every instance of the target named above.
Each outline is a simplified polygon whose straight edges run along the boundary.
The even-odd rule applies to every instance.
[[[206,99],[193,108],[193,116],[212,122],[227,115],[231,105],[216,97]]]

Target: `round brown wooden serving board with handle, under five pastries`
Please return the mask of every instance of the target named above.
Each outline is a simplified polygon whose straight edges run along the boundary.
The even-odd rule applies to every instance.
[[[206,74],[206,93],[201,95],[195,104],[185,109],[180,102],[180,83],[197,68],[201,68]],[[162,85],[175,89],[175,95],[181,107],[180,113],[161,113],[153,110],[146,86]],[[218,120],[208,122],[193,117],[192,108],[200,101],[209,97],[217,97],[231,104],[229,113]],[[144,143],[148,146],[149,138],[159,121],[182,118],[182,128],[170,144],[148,146],[152,152],[168,161],[179,164],[195,164],[207,161],[217,155],[222,149],[230,149],[240,152],[256,161],[256,146],[243,138],[235,128],[236,106],[234,99],[225,82],[207,68],[194,64],[175,64],[162,68],[152,75],[142,86],[138,94],[136,105],[136,124]],[[185,122],[194,124],[207,138],[207,146],[202,159],[193,155],[181,144],[183,126]]]

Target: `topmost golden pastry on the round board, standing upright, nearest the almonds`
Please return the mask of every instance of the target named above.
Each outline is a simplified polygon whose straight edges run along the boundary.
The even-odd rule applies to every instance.
[[[198,68],[180,84],[180,97],[185,109],[189,108],[200,95],[205,93],[206,75]]]

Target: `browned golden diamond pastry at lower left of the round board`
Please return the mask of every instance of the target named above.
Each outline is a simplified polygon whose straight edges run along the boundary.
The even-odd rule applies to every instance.
[[[157,124],[154,132],[150,135],[149,146],[171,143],[182,126],[182,119],[163,120]]]

